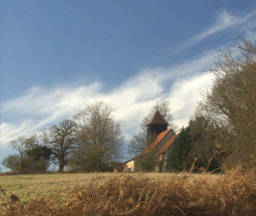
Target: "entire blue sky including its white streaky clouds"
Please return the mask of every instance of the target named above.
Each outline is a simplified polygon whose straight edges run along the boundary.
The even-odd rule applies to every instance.
[[[1,0],[1,157],[11,140],[105,101],[127,140],[168,100],[187,126],[239,36],[256,39],[255,1]]]

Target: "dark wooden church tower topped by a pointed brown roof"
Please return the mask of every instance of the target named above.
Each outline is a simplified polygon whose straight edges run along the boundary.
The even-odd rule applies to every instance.
[[[161,115],[159,110],[153,115],[147,124],[147,145],[156,139],[159,133],[167,130],[168,122]]]

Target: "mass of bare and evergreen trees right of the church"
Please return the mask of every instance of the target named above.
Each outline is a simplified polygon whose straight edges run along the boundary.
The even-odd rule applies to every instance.
[[[173,143],[172,169],[255,170],[256,41],[241,40],[205,69],[214,82]]]

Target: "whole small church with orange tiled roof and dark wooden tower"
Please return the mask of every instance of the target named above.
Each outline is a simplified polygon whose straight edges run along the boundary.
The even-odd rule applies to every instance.
[[[167,127],[168,122],[157,110],[147,124],[147,147],[137,157],[125,161],[127,172],[170,170],[172,143],[179,134]]]

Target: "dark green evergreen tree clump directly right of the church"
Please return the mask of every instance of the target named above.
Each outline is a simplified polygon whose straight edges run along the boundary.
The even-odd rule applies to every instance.
[[[182,128],[173,143],[171,167],[175,170],[209,170],[220,167],[221,149],[216,133],[220,129],[205,117],[189,120],[188,127]],[[194,163],[195,162],[195,163]]]

